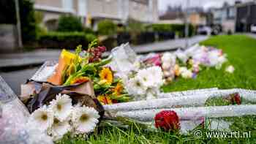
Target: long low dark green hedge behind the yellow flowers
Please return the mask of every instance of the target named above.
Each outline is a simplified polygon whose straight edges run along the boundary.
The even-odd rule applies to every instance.
[[[39,37],[39,45],[43,48],[66,48],[75,49],[77,45],[87,47],[93,40],[93,34],[83,32],[48,32]]]

